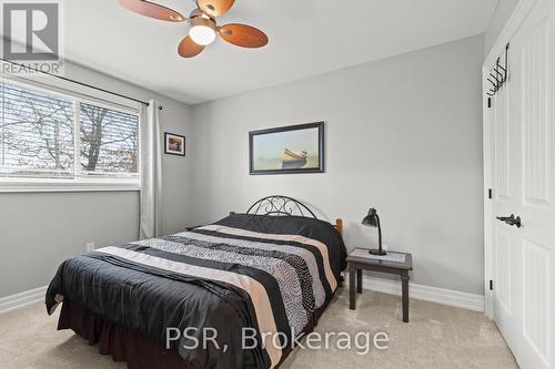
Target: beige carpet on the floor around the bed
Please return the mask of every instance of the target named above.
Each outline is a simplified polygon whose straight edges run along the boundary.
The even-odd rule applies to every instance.
[[[365,356],[332,348],[295,350],[282,368],[517,368],[496,327],[483,314],[411,300],[411,322],[401,321],[400,298],[365,291],[357,310],[349,310],[343,289],[320,321],[317,331],[386,331],[390,348]],[[57,331],[57,316],[36,304],[0,316],[0,368],[125,368],[97,347]]]

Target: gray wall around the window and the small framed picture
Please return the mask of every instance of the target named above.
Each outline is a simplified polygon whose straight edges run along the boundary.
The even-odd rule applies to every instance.
[[[190,107],[147,91],[68,63],[65,75],[141,100],[157,99],[163,105],[162,132],[190,134]],[[165,234],[190,223],[190,157],[163,155],[162,228]],[[58,265],[97,247],[138,238],[139,193],[0,193],[0,297],[44,286]]]

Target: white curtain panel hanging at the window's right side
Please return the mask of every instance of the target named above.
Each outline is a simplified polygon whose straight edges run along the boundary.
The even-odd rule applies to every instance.
[[[162,158],[160,151],[159,104],[143,106],[141,120],[141,209],[140,239],[161,233]]]

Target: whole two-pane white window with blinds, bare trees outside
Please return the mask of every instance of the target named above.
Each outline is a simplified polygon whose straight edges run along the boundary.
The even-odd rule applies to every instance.
[[[135,110],[0,83],[1,185],[139,185]]]

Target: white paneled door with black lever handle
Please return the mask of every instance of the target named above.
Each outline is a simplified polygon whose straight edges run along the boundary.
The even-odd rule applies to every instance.
[[[509,80],[490,110],[493,318],[523,369],[553,366],[555,125],[549,1],[511,40]],[[522,219],[502,222],[514,214]],[[507,224],[507,223],[512,223]]]

